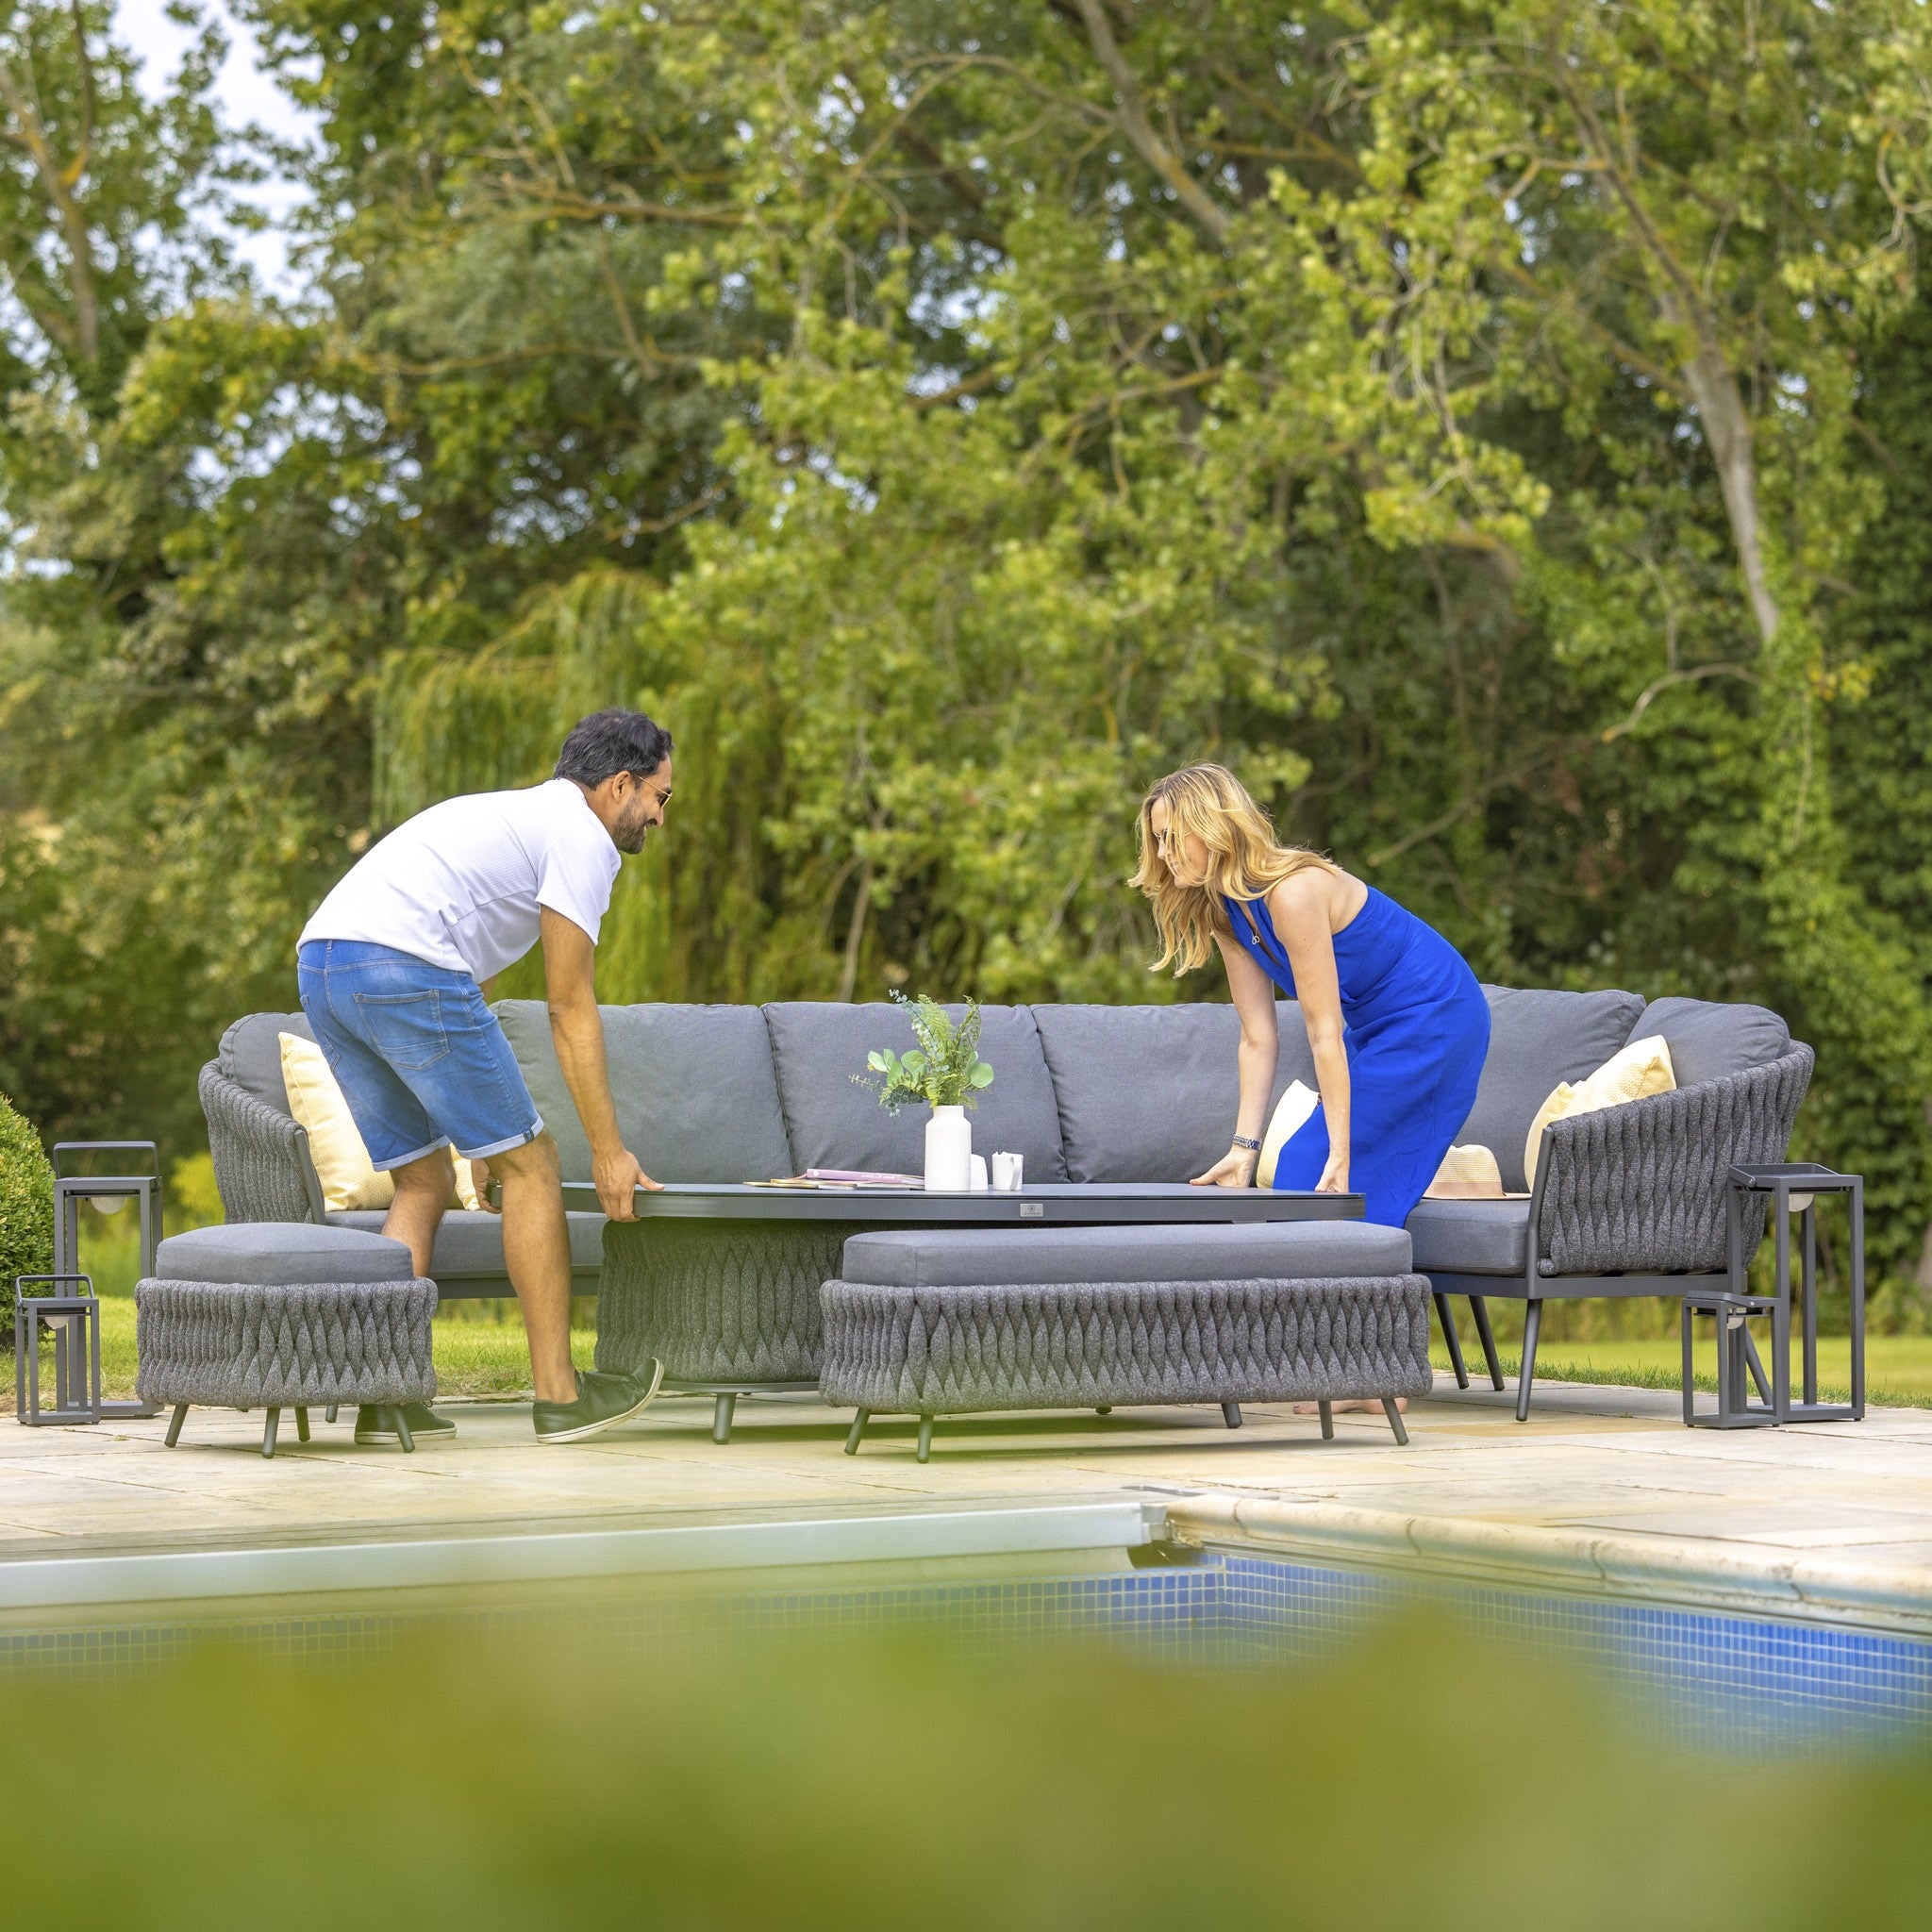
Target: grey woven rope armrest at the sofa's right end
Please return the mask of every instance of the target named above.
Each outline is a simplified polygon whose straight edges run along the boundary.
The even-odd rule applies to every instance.
[[[1810,1086],[1812,1049],[1621,1107],[1551,1121],[1536,1175],[1540,1275],[1725,1265],[1733,1161],[1781,1161]],[[1762,1209],[1745,1221],[1747,1260]]]

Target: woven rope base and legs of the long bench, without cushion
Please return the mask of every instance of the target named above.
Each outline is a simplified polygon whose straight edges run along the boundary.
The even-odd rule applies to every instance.
[[[1115,1408],[1426,1395],[1422,1275],[1320,1281],[1136,1281],[906,1289],[827,1281],[827,1403],[931,1418],[968,1410]],[[1323,1414],[1323,1424],[1327,1416]],[[1323,1426],[1323,1435],[1329,1428]]]

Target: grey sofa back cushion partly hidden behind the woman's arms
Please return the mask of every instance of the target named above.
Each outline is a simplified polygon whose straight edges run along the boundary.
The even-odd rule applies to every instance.
[[[1240,1018],[1225,1003],[1036,1007],[1070,1180],[1192,1180],[1227,1153],[1240,1107]],[[1316,1084],[1302,1010],[1275,1003],[1267,1107]]]

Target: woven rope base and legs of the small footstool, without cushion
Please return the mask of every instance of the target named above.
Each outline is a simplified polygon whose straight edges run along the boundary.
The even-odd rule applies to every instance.
[[[135,1387],[176,1410],[170,1447],[189,1406],[267,1408],[263,1455],[272,1455],[284,1406],[307,1441],[307,1410],[344,1403],[392,1410],[384,1420],[410,1447],[394,1410],[437,1393],[437,1285],[421,1277],[298,1287],[151,1277],[133,1294]]]

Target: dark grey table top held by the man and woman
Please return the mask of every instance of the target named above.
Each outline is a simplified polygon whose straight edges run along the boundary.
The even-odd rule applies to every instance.
[[[1275,1188],[1190,1188],[1184,1180],[1092,1180],[1018,1194],[925,1194],[918,1188],[761,1188],[746,1182],[672,1182],[638,1190],[638,1219],[688,1221],[889,1221],[906,1227],[1005,1227],[1010,1223],[1122,1225],[1134,1221],[1358,1221],[1360,1194]],[[597,1208],[587,1180],[564,1182],[564,1204]],[[612,1221],[612,1227],[624,1227]]]

